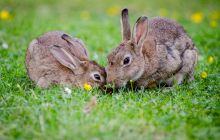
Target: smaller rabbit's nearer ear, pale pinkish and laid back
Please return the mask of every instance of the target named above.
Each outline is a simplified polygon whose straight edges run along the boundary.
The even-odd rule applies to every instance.
[[[71,69],[72,71],[76,70],[80,66],[80,60],[77,57],[72,56],[60,46],[51,46],[50,52],[57,59],[57,61],[59,61],[63,66]]]

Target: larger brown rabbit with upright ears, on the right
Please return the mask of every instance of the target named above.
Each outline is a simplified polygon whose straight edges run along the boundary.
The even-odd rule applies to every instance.
[[[121,13],[122,43],[108,55],[107,83],[138,87],[194,79],[197,49],[182,26],[165,18],[141,16],[131,35],[128,9]]]

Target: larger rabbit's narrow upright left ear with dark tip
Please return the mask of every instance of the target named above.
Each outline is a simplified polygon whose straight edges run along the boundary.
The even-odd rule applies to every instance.
[[[129,23],[128,9],[125,8],[121,11],[121,32],[123,41],[131,39],[131,29]]]

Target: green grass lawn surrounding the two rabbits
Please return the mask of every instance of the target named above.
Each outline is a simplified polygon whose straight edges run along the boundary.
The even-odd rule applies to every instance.
[[[90,58],[106,65],[107,54],[120,42],[119,15],[108,16],[113,5],[128,7],[132,23],[138,16],[176,19],[188,31],[200,52],[196,79],[172,88],[119,90],[106,95],[63,87],[37,88],[27,77],[24,59],[29,42],[50,30],[81,38]],[[0,20],[0,139],[220,139],[220,20],[209,25],[210,13],[220,11],[216,1],[0,1],[0,10],[12,14]],[[89,19],[80,16],[82,11]],[[202,12],[195,24],[191,14]],[[4,49],[2,44],[8,44]],[[215,61],[208,63],[208,57]],[[202,79],[200,73],[208,77]],[[97,105],[85,114],[92,96]]]

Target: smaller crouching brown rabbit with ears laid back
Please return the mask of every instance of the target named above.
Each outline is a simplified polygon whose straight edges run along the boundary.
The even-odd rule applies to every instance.
[[[39,87],[71,84],[83,88],[105,84],[105,69],[90,61],[84,43],[61,31],[34,39],[26,52],[28,75]]]

